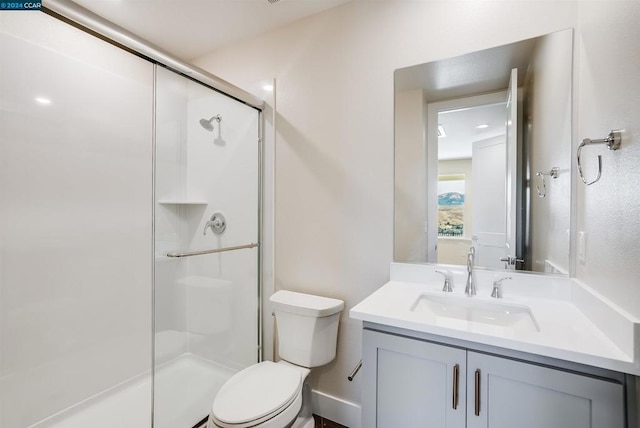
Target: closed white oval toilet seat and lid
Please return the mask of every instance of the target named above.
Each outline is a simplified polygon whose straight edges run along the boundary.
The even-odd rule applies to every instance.
[[[263,361],[249,366],[220,388],[213,402],[213,422],[224,428],[246,428],[280,414],[284,419],[284,413],[294,418],[302,406],[303,382],[302,373],[288,365]]]

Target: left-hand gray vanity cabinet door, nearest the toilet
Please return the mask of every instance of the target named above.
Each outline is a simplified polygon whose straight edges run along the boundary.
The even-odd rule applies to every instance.
[[[362,367],[363,427],[465,426],[465,350],[364,330]]]

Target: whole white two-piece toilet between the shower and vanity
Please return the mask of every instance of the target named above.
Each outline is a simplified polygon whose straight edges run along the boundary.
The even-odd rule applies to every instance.
[[[313,428],[313,367],[336,356],[342,300],[293,291],[269,299],[278,329],[277,363],[263,361],[236,373],[220,388],[207,428]]]

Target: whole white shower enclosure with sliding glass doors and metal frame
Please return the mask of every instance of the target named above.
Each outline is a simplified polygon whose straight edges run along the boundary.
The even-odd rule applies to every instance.
[[[53,15],[0,14],[0,427],[190,428],[260,359],[259,106]]]

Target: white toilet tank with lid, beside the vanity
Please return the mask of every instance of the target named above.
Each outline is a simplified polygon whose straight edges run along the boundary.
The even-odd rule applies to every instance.
[[[286,290],[275,292],[270,300],[280,358],[309,368],[333,361],[342,300]]]

